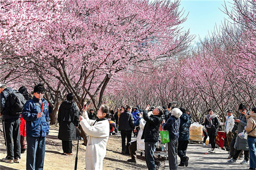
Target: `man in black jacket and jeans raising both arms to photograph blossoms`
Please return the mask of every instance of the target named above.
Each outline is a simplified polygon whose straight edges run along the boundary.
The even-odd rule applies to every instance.
[[[157,147],[157,141],[159,136],[159,127],[162,122],[161,116],[163,114],[163,108],[158,106],[153,110],[153,115],[148,116],[148,110],[150,106],[148,105],[143,112],[143,119],[146,121],[145,127],[143,129],[141,139],[145,141],[145,160],[148,169],[155,170],[154,163],[154,149]]]

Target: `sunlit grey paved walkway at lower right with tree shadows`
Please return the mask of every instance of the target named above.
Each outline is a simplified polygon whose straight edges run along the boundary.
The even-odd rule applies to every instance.
[[[216,149],[216,153],[209,153],[210,147],[203,147],[202,144],[188,144],[187,156],[189,157],[188,167],[178,167],[178,169],[249,169],[248,164],[240,164],[243,160],[237,160],[237,163],[228,163],[228,152],[222,149]],[[207,153],[205,155],[204,153]],[[180,159],[178,157],[178,164]],[[169,169],[168,160],[165,161],[165,169]]]

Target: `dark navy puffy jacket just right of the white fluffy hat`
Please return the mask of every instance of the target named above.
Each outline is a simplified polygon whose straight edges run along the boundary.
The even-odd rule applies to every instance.
[[[189,140],[189,127],[191,121],[188,117],[188,114],[183,113],[180,117],[180,124],[179,124],[179,141],[188,141]]]

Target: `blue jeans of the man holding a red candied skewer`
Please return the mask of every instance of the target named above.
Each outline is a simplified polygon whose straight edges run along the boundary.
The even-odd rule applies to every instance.
[[[43,169],[45,138],[27,136],[27,170]]]

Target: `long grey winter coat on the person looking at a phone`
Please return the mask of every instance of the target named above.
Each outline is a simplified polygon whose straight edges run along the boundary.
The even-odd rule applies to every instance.
[[[240,123],[235,123],[236,126],[238,126],[237,129],[237,134],[243,132],[244,127],[246,126],[247,120],[244,114],[240,114],[238,117],[239,120],[241,120]],[[249,150],[248,144],[247,144],[247,140],[246,139],[241,139],[238,135],[235,139],[235,146],[234,148],[236,150]]]

